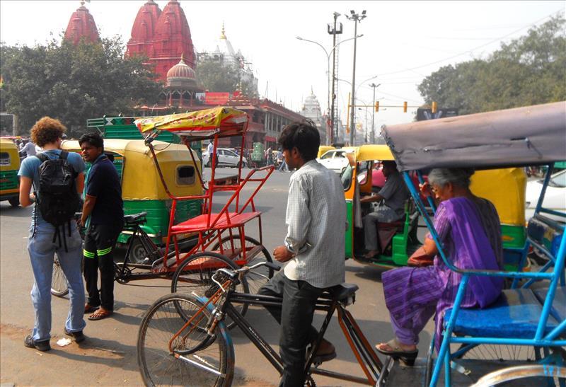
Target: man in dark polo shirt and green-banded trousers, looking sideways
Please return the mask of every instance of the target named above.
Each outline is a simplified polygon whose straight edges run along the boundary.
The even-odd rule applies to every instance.
[[[88,320],[107,318],[114,310],[114,260],[112,249],[124,226],[122,187],[114,163],[104,154],[104,141],[98,133],[79,139],[83,158],[91,163],[85,179],[85,198],[81,224],[84,240],[84,279],[88,299]],[[100,270],[100,291],[98,291]]]

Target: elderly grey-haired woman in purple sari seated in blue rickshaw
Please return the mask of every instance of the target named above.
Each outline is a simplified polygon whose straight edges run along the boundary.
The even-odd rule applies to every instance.
[[[461,269],[500,270],[503,250],[499,216],[492,202],[470,191],[468,168],[437,168],[421,186],[424,195],[434,195],[438,209],[434,229],[446,257]],[[383,273],[383,292],[395,338],[376,345],[382,354],[412,365],[417,357],[419,333],[435,315],[437,350],[441,342],[446,309],[454,305],[461,275],[449,270],[440,258],[432,236],[424,241],[424,253],[434,257],[427,267],[400,267]],[[484,308],[503,289],[501,278],[471,277],[462,308]]]

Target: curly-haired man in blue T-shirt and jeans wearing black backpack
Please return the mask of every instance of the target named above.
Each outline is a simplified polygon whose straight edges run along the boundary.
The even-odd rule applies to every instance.
[[[55,253],[69,284],[69,314],[64,333],[74,337],[76,342],[81,342],[84,340],[83,328],[86,325],[83,320],[81,236],[76,227],[71,227],[71,221],[74,224],[74,212],[79,206],[79,192],[82,192],[84,186],[85,165],[79,154],[61,150],[62,135],[66,129],[61,122],[50,117],[43,117],[35,122],[31,138],[44,151],[25,158],[18,172],[21,206],[28,207],[35,202],[28,238],[28,253],[35,279],[31,291],[35,325],[32,334],[25,337],[24,345],[39,351],[51,349],[51,279]],[[47,168],[55,164],[59,168]],[[66,182],[69,190],[59,194],[62,195],[59,198],[54,197],[49,188],[62,174],[52,175],[50,178],[50,171],[64,171],[65,177],[71,176]],[[30,193],[32,187],[34,192]],[[62,219],[63,224],[59,225],[57,219],[53,219],[54,214],[68,219]]]

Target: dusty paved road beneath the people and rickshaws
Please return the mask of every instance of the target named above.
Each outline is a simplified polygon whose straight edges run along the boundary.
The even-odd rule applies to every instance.
[[[220,168],[219,174],[235,170]],[[209,171],[207,171],[209,175]],[[262,216],[263,240],[268,250],[282,243],[285,232],[284,212],[290,173],[275,171],[258,194],[255,204]],[[249,190],[247,191],[249,192]],[[221,201],[221,195],[219,195]],[[224,199],[225,200],[225,199]],[[30,209],[12,209],[0,202],[0,383],[16,385],[139,385],[141,377],[136,361],[137,330],[146,308],[159,296],[168,293],[169,282],[144,281],[139,284],[161,285],[137,287],[115,285],[115,314],[112,318],[87,322],[86,342],[58,347],[55,342],[64,337],[67,299],[52,299],[53,350],[40,353],[23,346],[23,337],[33,328],[33,308],[30,270],[26,243],[30,224]],[[249,234],[257,236],[257,226]],[[347,261],[346,280],[358,284],[357,302],[349,309],[357,318],[369,342],[388,340],[392,336],[388,312],[383,302],[381,270]],[[278,325],[261,308],[252,308],[248,318],[270,344],[278,342]],[[321,322],[321,316],[316,316]],[[426,353],[433,325],[429,323],[421,334],[420,351]],[[243,333],[231,332],[236,350],[236,386],[277,385],[278,376],[270,364],[255,350]],[[330,324],[327,336],[337,347],[338,358],[325,368],[361,376],[347,342],[336,320]],[[347,386],[347,383],[317,376],[319,386]]]

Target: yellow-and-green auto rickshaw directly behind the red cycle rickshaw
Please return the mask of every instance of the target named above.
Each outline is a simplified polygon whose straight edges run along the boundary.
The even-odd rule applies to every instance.
[[[62,148],[80,152],[79,141],[64,141]],[[182,144],[154,142],[155,154],[163,171],[169,190],[180,197],[202,195],[202,187],[196,180],[195,168],[200,160],[195,156],[192,161],[189,150]],[[104,152],[113,159],[118,175],[122,180],[122,200],[124,214],[147,212],[146,224],[141,228],[157,245],[163,245],[167,239],[171,199],[163,189],[163,184],[154,166],[153,156],[144,144],[144,140],[105,139]],[[195,164],[197,163],[197,164]],[[90,168],[88,165],[87,168]],[[177,203],[175,221],[186,221],[201,213],[202,200],[181,200]],[[124,230],[118,237],[118,243],[127,243],[132,231]],[[187,235],[188,236],[188,235]],[[146,251],[141,244],[132,247],[134,260],[142,260]]]

